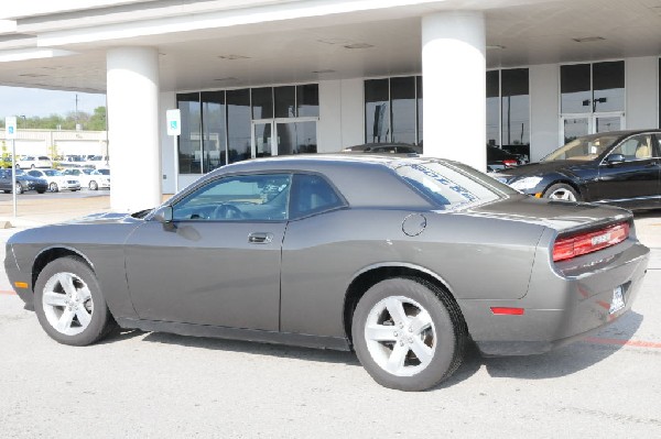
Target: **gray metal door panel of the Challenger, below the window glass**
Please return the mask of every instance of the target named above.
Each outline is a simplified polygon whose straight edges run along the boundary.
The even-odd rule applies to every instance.
[[[131,298],[142,319],[279,329],[285,222],[145,221],[126,245]],[[269,233],[251,243],[251,233]]]

